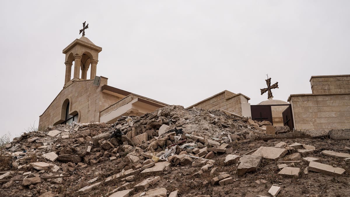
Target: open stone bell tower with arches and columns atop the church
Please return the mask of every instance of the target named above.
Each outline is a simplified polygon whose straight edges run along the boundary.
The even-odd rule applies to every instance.
[[[84,23],[83,23],[84,24]],[[85,28],[85,27],[84,27]],[[83,28],[83,30],[84,30]],[[67,87],[73,81],[86,80],[87,70],[90,68],[90,79],[94,79],[96,76],[96,66],[98,62],[98,53],[102,51],[102,48],[96,46],[85,36],[79,39],[75,39],[70,45],[63,49],[62,53],[65,54],[65,79],[63,88]],[[74,75],[71,78],[71,69],[74,61]],[[81,70],[81,75],[80,75]]]

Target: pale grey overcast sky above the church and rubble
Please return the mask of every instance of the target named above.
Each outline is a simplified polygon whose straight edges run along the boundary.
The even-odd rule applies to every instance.
[[[350,74],[350,1],[1,1],[0,135],[19,135],[64,84],[62,49],[102,47],[110,86],[188,107],[223,90],[251,104],[311,93],[310,76]],[[73,69],[72,69],[73,70]],[[90,70],[89,72],[90,73]],[[89,75],[88,75],[89,76]]]

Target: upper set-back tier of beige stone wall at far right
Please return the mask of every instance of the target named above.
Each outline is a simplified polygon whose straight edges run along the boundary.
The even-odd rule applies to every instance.
[[[312,76],[310,83],[313,94],[350,93],[350,75]]]

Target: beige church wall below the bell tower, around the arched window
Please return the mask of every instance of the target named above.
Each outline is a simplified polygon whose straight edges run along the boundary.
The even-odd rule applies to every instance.
[[[66,99],[70,102],[70,114],[78,112],[78,121],[82,123],[99,122],[99,112],[119,100],[118,97],[103,93],[101,86],[107,80],[101,80],[99,86],[93,80],[75,81],[62,89],[49,107],[39,117],[39,127],[59,124],[64,121],[62,105]],[[65,110],[63,110],[65,111]]]

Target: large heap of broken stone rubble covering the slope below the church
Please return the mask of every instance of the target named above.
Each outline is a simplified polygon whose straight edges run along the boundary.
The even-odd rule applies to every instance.
[[[3,196],[346,196],[350,142],[223,110],[160,108],[25,133],[0,154]],[[330,186],[331,183],[331,186]],[[327,186],[326,186],[327,185]]]

